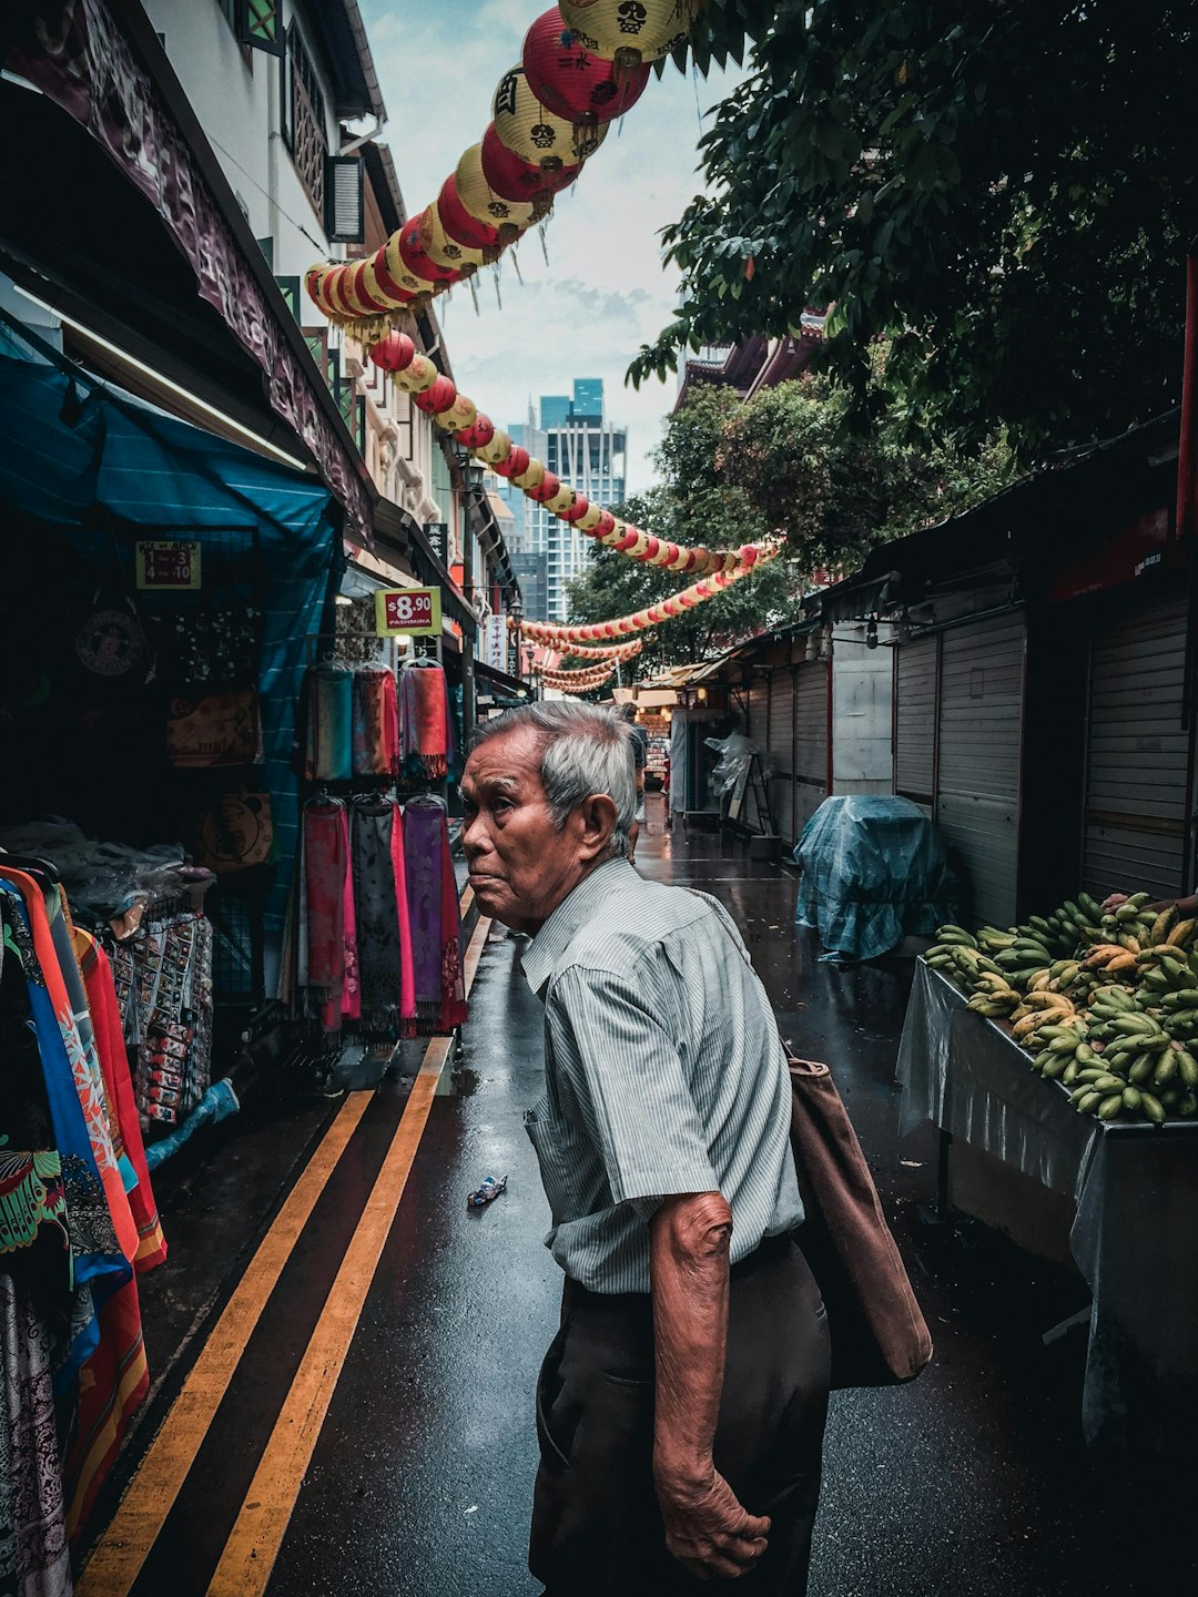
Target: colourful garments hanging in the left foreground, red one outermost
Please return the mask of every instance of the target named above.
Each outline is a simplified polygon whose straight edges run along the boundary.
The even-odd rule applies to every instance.
[[[112,966],[54,877],[0,853],[0,1591],[38,1594],[149,1391],[166,1257]]]

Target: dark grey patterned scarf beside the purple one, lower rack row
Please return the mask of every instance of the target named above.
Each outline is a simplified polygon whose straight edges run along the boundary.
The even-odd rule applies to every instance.
[[[395,1038],[415,1033],[411,1019],[401,1025],[403,933],[395,880],[399,808],[390,798],[353,800],[353,896],[358,910],[358,963],[363,982],[363,1030]],[[407,918],[407,905],[403,905]],[[411,949],[411,937],[409,937]]]

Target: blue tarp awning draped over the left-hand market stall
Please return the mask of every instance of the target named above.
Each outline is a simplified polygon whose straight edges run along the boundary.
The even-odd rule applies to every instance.
[[[296,851],[292,744],[307,634],[321,629],[339,537],[327,489],[201,428],[91,391],[51,366],[0,358],[0,506],[65,530],[80,564],[104,561],[97,511],[188,538],[259,530],[264,636],[262,786],[272,792],[280,869],[268,918],[283,921]],[[195,529],[195,530],[193,530]],[[50,573],[48,573],[50,580]]]

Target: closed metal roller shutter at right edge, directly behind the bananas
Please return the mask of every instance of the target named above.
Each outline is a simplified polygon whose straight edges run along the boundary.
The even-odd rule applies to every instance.
[[[1096,634],[1089,663],[1088,893],[1176,898],[1185,869],[1190,735],[1182,725],[1185,602],[1137,605]]]

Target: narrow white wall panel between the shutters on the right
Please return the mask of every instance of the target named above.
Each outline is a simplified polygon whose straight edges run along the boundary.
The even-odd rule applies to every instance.
[[[864,626],[837,626],[832,647],[832,791],[837,794],[895,791],[895,660],[888,642],[885,626],[879,628],[877,648],[866,647]]]

